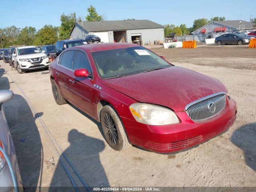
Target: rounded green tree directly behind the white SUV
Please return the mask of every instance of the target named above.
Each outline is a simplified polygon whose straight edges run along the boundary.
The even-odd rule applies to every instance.
[[[17,43],[20,45],[33,45],[36,38],[36,28],[24,27],[17,38]]]

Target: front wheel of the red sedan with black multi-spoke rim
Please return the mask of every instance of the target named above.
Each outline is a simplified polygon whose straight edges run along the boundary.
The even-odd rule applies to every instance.
[[[114,150],[121,151],[131,146],[122,122],[111,105],[106,105],[102,108],[100,124],[106,141]]]

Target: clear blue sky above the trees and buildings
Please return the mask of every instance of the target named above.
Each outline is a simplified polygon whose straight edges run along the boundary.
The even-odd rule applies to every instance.
[[[224,16],[226,20],[256,18],[256,0],[0,0],[0,28],[15,25],[60,26],[62,13],[75,12],[85,20],[87,8],[96,7],[105,20],[148,19],[158,24],[193,25],[198,18]]]

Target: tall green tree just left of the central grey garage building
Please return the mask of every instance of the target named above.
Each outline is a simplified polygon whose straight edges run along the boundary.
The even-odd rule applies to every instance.
[[[60,16],[60,28],[59,28],[59,40],[64,40],[70,38],[69,34],[72,30],[74,24],[76,23],[76,13],[70,13],[65,15],[62,13]]]

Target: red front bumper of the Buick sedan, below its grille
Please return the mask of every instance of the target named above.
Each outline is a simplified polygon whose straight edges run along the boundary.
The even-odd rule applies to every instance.
[[[202,122],[193,122],[185,111],[176,112],[181,123],[150,126],[121,117],[131,144],[150,151],[168,153],[190,148],[228,130],[236,119],[236,101],[227,99],[224,110]]]

